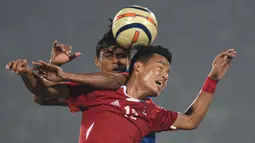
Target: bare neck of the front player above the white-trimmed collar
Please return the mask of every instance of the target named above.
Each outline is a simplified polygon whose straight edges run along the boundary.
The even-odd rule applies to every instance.
[[[138,77],[131,76],[128,80],[126,87],[127,87],[127,94],[135,99],[144,99],[148,96],[148,93],[144,90],[139,84],[140,79]]]

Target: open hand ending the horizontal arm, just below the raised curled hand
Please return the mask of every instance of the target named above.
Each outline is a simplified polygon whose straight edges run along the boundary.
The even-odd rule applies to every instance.
[[[56,65],[46,63],[42,60],[38,62],[32,62],[33,70],[38,71],[41,76],[49,81],[59,82],[64,80],[64,71]]]

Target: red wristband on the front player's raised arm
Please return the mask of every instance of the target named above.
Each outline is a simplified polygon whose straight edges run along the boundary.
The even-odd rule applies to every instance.
[[[216,90],[217,83],[218,83],[218,80],[207,77],[202,87],[202,91],[207,93],[214,93]]]

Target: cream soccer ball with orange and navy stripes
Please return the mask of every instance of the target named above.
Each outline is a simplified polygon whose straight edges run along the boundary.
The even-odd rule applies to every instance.
[[[118,44],[124,48],[150,45],[156,38],[158,23],[148,9],[131,5],[120,10],[113,19],[112,33]]]

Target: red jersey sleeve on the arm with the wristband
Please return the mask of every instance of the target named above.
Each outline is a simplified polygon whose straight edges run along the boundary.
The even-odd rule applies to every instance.
[[[152,130],[154,132],[171,130],[171,126],[178,116],[178,112],[166,110],[162,107],[156,106],[154,109],[155,119],[152,123]]]

